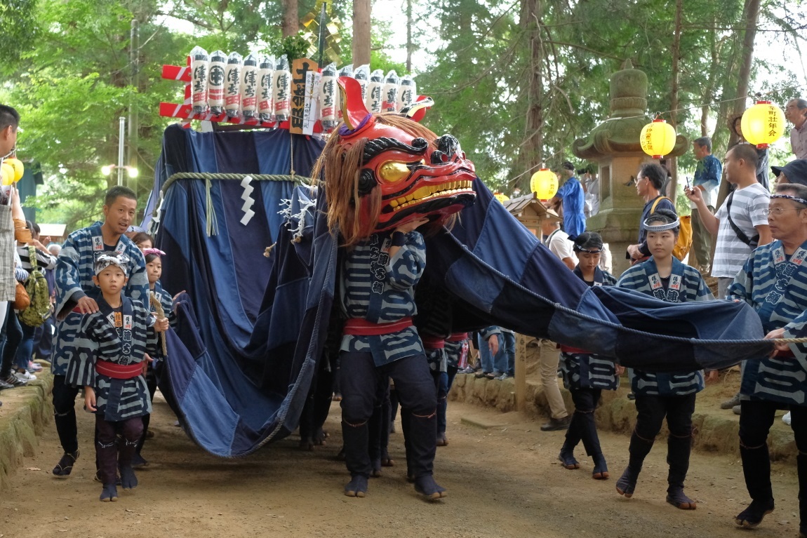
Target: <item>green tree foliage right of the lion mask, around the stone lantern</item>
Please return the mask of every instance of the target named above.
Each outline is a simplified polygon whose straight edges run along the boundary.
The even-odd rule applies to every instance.
[[[530,2],[537,5],[537,20],[524,19]],[[745,6],[742,0],[683,2],[678,131],[690,140],[713,136],[718,151],[725,150],[729,104],[738,97]],[[787,44],[796,56],[807,22],[801,6],[801,1],[763,0],[758,41]],[[625,60],[647,73],[648,113],[670,119],[671,2],[445,0],[438,13],[441,41],[433,48],[433,65],[418,77],[420,87],[440,101],[430,121],[458,136],[480,177],[493,185],[525,186],[524,172],[535,161],[557,167],[573,159],[572,141],[608,117],[608,77]],[[525,160],[535,134],[526,123],[531,31],[541,44],[538,104],[544,123],[540,155]],[[796,73],[770,65],[773,50],[755,55],[752,92],[780,103],[804,94],[805,81]],[[691,155],[682,161],[694,164]]]

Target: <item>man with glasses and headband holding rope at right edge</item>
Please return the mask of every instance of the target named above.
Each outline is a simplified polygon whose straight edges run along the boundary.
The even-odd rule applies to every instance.
[[[807,335],[807,186],[776,186],[768,208],[774,240],[757,248],[729,286],[727,297],[747,302],[766,338]],[[776,344],[776,352],[746,361],[740,387],[740,455],[751,505],[735,521],[759,525],[774,508],[767,436],[777,410],[790,409],[799,478],[799,536],[807,536],[807,346]]]

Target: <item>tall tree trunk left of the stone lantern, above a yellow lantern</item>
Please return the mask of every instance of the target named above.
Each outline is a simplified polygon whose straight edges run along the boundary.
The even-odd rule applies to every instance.
[[[541,0],[523,0],[521,4],[521,27],[527,31],[529,50],[529,81],[527,85],[527,121],[525,140],[521,144],[520,161],[523,169],[541,164],[543,158],[543,44],[541,43]],[[520,183],[529,185],[531,173],[525,174]]]

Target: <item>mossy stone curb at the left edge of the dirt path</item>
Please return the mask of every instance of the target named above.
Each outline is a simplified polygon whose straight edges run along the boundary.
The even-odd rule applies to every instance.
[[[36,381],[0,392],[0,491],[10,487],[10,476],[34,455],[39,436],[53,417],[50,394],[53,376],[44,369]]]

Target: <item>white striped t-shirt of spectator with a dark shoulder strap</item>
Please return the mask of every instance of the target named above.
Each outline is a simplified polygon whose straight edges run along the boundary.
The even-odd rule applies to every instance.
[[[758,234],[756,226],[767,225],[765,210],[767,210],[770,199],[771,193],[759,183],[734,191],[731,200],[731,220],[749,239],[753,239]],[[734,228],[731,227],[726,209],[728,201],[729,199],[726,198],[723,205],[714,214],[720,220],[720,226],[717,228],[717,242],[714,246],[713,277],[734,278],[737,276],[753,250],[738,238]]]

